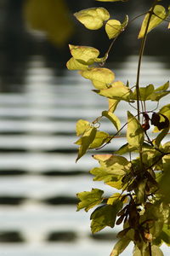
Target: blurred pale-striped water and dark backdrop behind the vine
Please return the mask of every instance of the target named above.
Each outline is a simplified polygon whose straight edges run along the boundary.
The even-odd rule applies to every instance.
[[[91,152],[76,164],[77,119],[93,121],[107,109],[90,82],[66,70],[68,44],[90,45],[105,54],[111,41],[104,29],[88,31],[73,13],[94,6],[114,19],[145,12],[152,1],[99,3],[93,0],[0,1],[0,255],[109,255],[115,230],[94,236],[90,212],[76,212],[77,192],[105,189],[88,171],[96,166]],[[169,0],[162,1],[167,6]],[[106,67],[135,84],[139,25],[134,20],[116,40]],[[150,32],[141,84],[161,85],[169,79],[170,39],[167,22]],[[168,96],[167,96],[168,97]],[[165,101],[168,101],[166,98]],[[121,105],[117,114],[123,118]],[[156,105],[149,106],[150,109]],[[161,107],[161,106],[160,106]],[[105,131],[115,131],[106,120]],[[125,132],[125,131],[124,131]],[[102,150],[111,152],[122,139]],[[132,248],[126,253],[129,255]],[[164,248],[165,255],[169,249]]]

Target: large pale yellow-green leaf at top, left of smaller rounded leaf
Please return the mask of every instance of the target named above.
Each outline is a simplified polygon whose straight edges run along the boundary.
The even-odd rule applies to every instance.
[[[109,20],[109,12],[102,7],[82,9],[74,14],[77,20],[79,20],[88,29],[96,30],[103,26],[105,20]]]

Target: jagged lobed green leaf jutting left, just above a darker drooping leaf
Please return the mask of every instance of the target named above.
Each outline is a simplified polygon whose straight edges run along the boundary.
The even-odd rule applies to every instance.
[[[77,211],[84,208],[86,212],[89,209],[99,205],[102,201],[102,195],[104,194],[103,190],[100,189],[92,189],[90,192],[84,191],[77,194],[77,198],[80,202],[77,205]]]

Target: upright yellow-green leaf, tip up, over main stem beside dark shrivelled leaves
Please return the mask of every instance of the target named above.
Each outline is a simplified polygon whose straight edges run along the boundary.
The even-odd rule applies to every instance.
[[[144,131],[132,113],[127,111],[127,142],[130,147],[139,148],[144,143]]]

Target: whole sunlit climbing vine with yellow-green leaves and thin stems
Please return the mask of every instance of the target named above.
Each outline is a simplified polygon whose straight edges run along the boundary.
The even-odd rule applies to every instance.
[[[103,148],[114,141],[117,136],[121,136],[123,128],[127,131],[127,143],[121,148],[112,154],[93,155],[99,166],[90,171],[94,175],[94,181],[104,182],[114,191],[117,189],[117,193],[108,198],[101,189],[77,194],[77,211],[84,209],[88,212],[95,207],[91,214],[93,233],[107,226],[114,228],[115,225],[122,224],[111,256],[122,253],[130,241],[134,244],[133,256],[161,256],[161,244],[164,242],[167,246],[170,245],[170,104],[161,105],[161,108],[158,104],[170,93],[169,82],[164,81],[159,87],[154,84],[139,86],[141,61],[148,33],[162,22],[167,22],[167,29],[170,28],[170,7],[165,9],[158,2],[161,0],[153,1],[150,9],[143,14],[144,20],[139,28],[141,46],[135,84],[115,81],[115,73],[104,67],[116,38],[131,23],[127,15],[122,22],[113,20],[109,12],[101,7],[83,9],[75,14],[77,20],[90,30],[105,26],[105,32],[112,41],[103,57],[99,57],[99,50],[94,47],[69,45],[72,57],[66,64],[67,68],[78,70],[83,78],[91,80],[93,91],[109,102],[108,110],[104,110],[93,122],[84,119],[77,121],[77,160],[88,149]],[[116,116],[116,107],[122,101],[129,104],[127,122],[123,125]],[[157,108],[149,109],[148,102],[156,102]],[[132,108],[136,111],[134,115],[131,113]],[[113,134],[99,131],[99,124],[104,117],[115,126],[116,132],[113,130]],[[154,137],[150,137],[150,129],[154,132]]]

